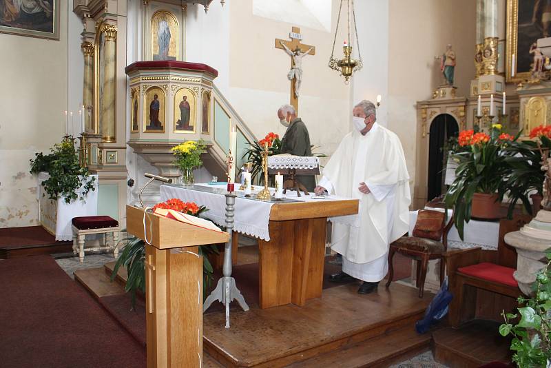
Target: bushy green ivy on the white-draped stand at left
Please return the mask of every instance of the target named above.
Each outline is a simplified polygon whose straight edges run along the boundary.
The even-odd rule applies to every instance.
[[[96,190],[96,178],[90,176],[87,167],[80,166],[72,139],[56,143],[50,151],[47,155],[39,152],[30,160],[31,174],[48,173],[48,178],[41,183],[48,198],[55,201],[62,197],[65,203],[71,203],[78,198],[84,200],[88,192]]]

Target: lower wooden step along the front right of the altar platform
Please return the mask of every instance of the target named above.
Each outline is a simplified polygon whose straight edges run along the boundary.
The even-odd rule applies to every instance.
[[[413,326],[402,327],[361,343],[344,345],[326,354],[296,362],[289,368],[388,367],[426,351],[430,334],[419,335]]]

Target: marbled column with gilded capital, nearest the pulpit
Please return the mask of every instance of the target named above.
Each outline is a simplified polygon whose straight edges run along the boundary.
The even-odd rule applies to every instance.
[[[105,24],[101,27],[105,34],[103,50],[104,79],[103,100],[101,112],[101,135],[104,142],[114,142],[115,137],[115,55],[116,55],[116,25]]]

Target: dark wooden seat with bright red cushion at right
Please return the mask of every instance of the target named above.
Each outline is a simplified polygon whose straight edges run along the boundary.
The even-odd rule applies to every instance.
[[[448,314],[452,327],[459,327],[474,318],[497,320],[502,310],[514,309],[516,298],[521,295],[517,280],[513,278],[517,255],[503,237],[530,220],[528,215],[515,215],[512,220],[501,219],[497,252],[477,247],[455,249],[444,254],[448,289],[453,294]],[[481,293],[484,296],[479,297]]]

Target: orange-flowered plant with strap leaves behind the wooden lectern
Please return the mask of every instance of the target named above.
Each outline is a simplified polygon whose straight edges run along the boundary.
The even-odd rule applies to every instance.
[[[158,203],[155,208],[167,208],[176,209],[176,211],[189,214],[191,216],[200,216],[200,214],[208,211],[205,206],[198,206],[193,202],[183,202],[177,198],[169,199],[166,202]],[[116,260],[115,267],[111,274],[111,280],[114,280],[118,269],[126,267],[128,278],[125,285],[125,291],[130,292],[132,296],[132,307],[136,305],[136,292],[145,293],[145,241],[140,238],[132,236],[125,238],[121,241],[125,243],[123,251],[119,254]],[[218,254],[218,248],[216,245],[200,245],[199,255],[203,256],[203,297],[205,298],[205,292],[211,285],[213,280],[214,269],[212,268],[207,254]]]

